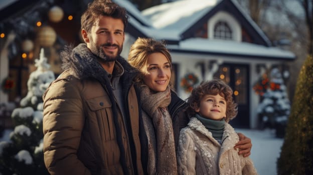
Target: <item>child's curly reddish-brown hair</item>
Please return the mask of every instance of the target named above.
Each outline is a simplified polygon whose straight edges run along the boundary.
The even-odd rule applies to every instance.
[[[201,99],[207,95],[221,95],[226,100],[226,118],[225,121],[233,119],[238,113],[237,103],[233,100],[233,90],[229,85],[220,79],[214,79],[210,81],[203,81],[200,85],[195,87],[190,96],[187,98],[190,110],[189,116],[195,116],[195,109],[200,107]]]

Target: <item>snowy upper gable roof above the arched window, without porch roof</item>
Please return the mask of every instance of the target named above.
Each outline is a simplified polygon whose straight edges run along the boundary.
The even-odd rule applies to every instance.
[[[178,0],[147,8],[142,15],[150,19],[155,28],[173,29],[174,34],[184,40],[192,37],[196,29],[221,10],[237,18],[254,43],[271,45],[268,37],[235,0]]]

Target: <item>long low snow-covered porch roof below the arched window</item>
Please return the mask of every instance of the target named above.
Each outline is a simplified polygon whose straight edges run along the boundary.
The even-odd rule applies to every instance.
[[[180,42],[179,45],[168,45],[168,48],[183,51],[201,51],[223,54],[246,55],[256,57],[270,57],[281,59],[294,59],[295,54],[278,47],[238,42],[233,40],[191,38]]]

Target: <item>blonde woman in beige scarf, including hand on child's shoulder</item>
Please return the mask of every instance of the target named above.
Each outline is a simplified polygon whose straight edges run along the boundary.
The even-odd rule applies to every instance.
[[[176,146],[181,128],[187,126],[187,104],[171,90],[172,57],[165,44],[138,38],[130,47],[128,62],[140,70],[140,144],[143,169],[148,174],[177,174]],[[237,144],[250,154],[251,140],[244,135]],[[146,164],[145,164],[146,163]]]

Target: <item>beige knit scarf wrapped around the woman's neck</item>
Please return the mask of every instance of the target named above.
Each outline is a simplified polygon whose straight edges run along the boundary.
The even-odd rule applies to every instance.
[[[171,102],[171,89],[168,87],[155,93],[146,85],[140,88],[141,106],[152,120],[156,140],[156,162],[148,161],[149,174],[177,174],[173,124],[167,109]]]

